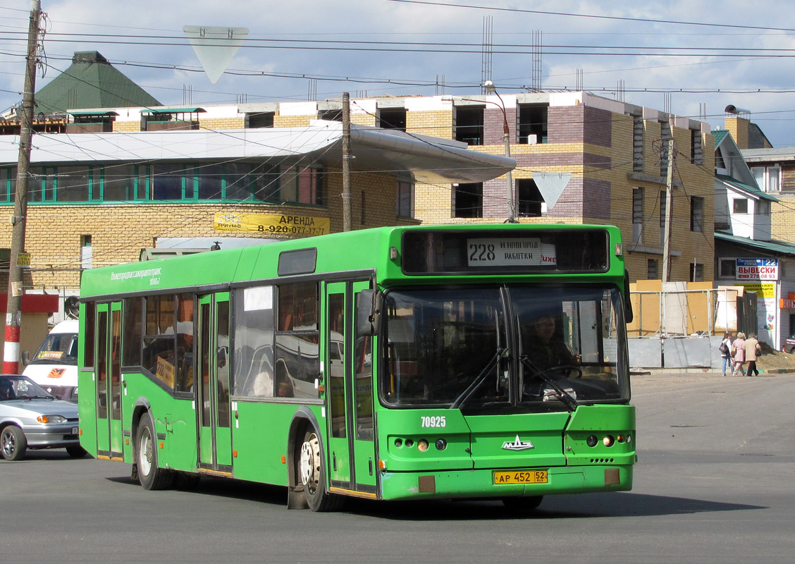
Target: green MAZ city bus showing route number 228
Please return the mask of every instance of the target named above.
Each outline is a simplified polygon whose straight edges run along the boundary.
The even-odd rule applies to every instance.
[[[289,508],[632,487],[618,228],[366,229],[83,271],[80,444]]]

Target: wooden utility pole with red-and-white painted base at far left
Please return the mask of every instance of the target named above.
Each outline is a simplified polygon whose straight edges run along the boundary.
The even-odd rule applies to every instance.
[[[19,160],[17,161],[17,189],[14,196],[14,215],[11,216],[11,255],[8,271],[8,306],[6,307],[6,343],[3,348],[3,372],[19,373],[19,336],[21,333],[22,270],[19,254],[25,250],[25,219],[28,210],[28,171],[30,168],[30,140],[33,136],[33,102],[36,90],[36,62],[39,42],[41,1],[30,2],[28,54],[25,64],[25,91],[22,92],[22,115],[19,132]]]

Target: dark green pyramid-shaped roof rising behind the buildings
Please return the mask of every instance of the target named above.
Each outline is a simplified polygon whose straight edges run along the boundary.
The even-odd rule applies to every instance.
[[[36,92],[35,113],[80,108],[150,107],[161,103],[96,51],[75,53],[72,65]]]

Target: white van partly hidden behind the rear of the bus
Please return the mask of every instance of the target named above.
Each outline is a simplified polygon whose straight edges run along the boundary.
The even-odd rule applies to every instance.
[[[77,402],[78,321],[68,319],[53,327],[22,375],[52,395]],[[25,360],[25,359],[23,359]]]

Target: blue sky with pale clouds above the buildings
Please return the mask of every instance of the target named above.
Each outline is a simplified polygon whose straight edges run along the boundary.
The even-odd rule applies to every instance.
[[[782,17],[791,9],[786,0],[41,0],[37,89],[76,51],[99,51],[164,105],[472,95],[488,76],[519,93],[540,52],[543,91],[582,84],[713,129],[733,104],[773,146],[795,146],[795,23]],[[21,100],[29,10],[29,0],[0,0],[0,112]],[[216,84],[184,25],[250,30]]]

